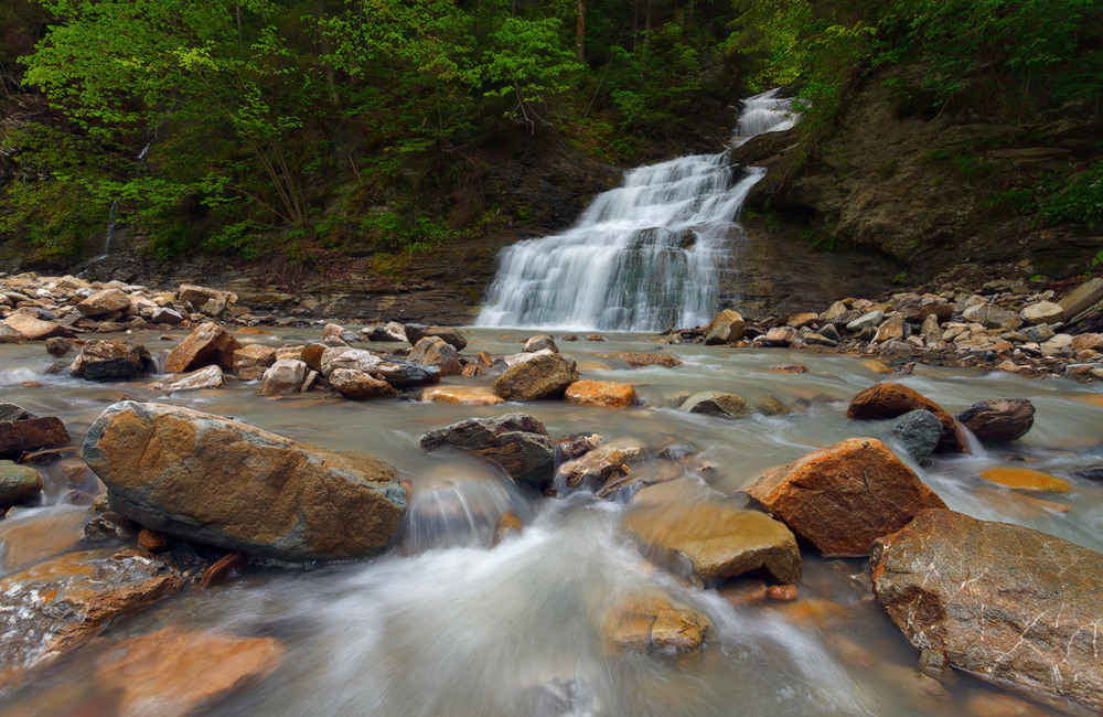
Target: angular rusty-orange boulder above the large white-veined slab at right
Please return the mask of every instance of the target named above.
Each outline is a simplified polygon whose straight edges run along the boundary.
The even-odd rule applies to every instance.
[[[805,453],[746,489],[827,557],[869,553],[927,507],[945,507],[910,468],[874,438],[848,438]]]

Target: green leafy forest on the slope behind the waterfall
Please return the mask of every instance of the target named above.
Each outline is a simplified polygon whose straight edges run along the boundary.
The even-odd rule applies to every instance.
[[[510,148],[627,167],[779,85],[793,167],[874,77],[920,117],[1103,97],[1099,0],[10,0],[0,29],[0,239],[47,259],[109,223],[160,258],[425,252],[527,218],[488,180]],[[1101,156],[1002,199],[1094,226]]]

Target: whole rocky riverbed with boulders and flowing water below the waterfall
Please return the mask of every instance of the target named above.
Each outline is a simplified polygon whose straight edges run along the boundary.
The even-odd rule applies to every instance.
[[[552,336],[2,279],[3,704],[1101,710],[1101,299]]]

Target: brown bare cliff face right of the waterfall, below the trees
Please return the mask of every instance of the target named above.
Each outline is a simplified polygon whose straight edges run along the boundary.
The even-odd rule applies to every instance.
[[[1083,169],[1101,152],[1092,108],[1022,121],[976,111],[912,114],[872,77],[820,157],[792,157],[797,129],[736,150],[771,173],[751,206],[804,223],[810,236],[842,239],[901,263],[913,282],[960,265],[1063,278],[1090,270],[1103,249],[1096,227],[1040,228],[1016,212],[1016,192]]]

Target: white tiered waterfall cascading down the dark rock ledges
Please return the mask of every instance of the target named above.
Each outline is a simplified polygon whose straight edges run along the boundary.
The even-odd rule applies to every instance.
[[[775,95],[743,101],[740,138],[792,126]],[[475,324],[654,331],[707,321],[739,210],[763,174],[737,172],[727,151],[632,170],[570,229],[506,248]]]

